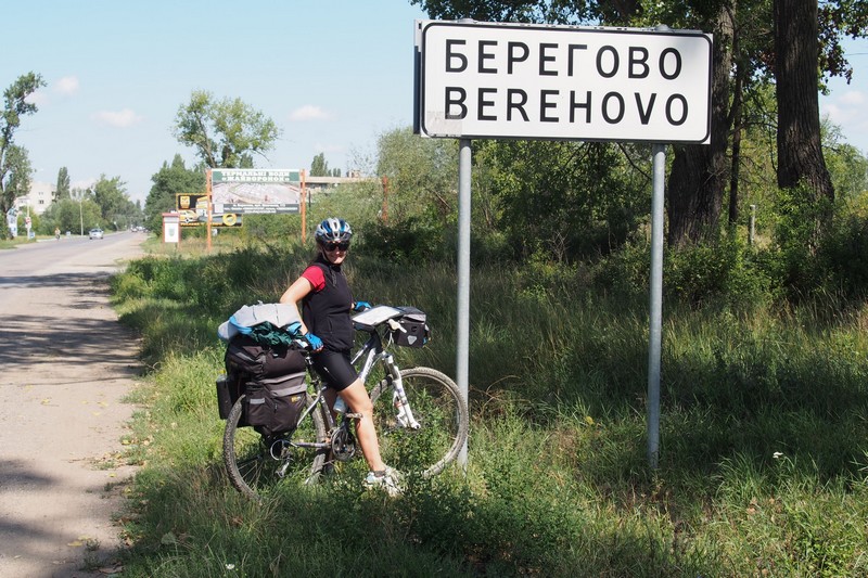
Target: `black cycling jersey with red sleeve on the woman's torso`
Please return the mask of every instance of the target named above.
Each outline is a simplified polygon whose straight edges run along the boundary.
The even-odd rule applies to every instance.
[[[307,331],[322,339],[323,346],[332,351],[349,350],[355,336],[349,318],[353,294],[341,266],[320,256],[302,277],[314,287],[302,299],[302,318]]]

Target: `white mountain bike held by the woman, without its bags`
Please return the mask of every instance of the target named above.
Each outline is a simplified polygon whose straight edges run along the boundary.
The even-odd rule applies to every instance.
[[[388,351],[391,345],[406,343],[408,310],[412,308],[376,306],[354,316],[356,331],[367,338],[352,361],[369,387],[383,461],[405,478],[429,478],[443,472],[463,447],[468,406],[447,375],[424,367],[403,370]],[[224,461],[232,485],[250,498],[260,499],[286,483],[317,483],[361,454],[355,437],[361,414],[332,414],[310,351],[304,349],[304,355],[308,387],[295,429],[269,437],[245,427],[243,394],[227,416]],[[382,370],[379,380],[372,378],[376,367]]]

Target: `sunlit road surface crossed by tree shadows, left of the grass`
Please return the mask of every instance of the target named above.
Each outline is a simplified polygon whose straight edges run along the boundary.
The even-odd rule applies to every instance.
[[[144,239],[0,251],[0,576],[99,576],[119,545],[112,519],[131,468],[115,457],[138,343],[107,279]]]

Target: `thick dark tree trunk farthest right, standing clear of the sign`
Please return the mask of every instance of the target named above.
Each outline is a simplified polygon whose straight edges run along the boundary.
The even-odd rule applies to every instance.
[[[775,0],[774,11],[778,187],[805,184],[810,195],[806,202],[834,201],[820,145],[817,0]],[[827,218],[818,217],[817,233]]]

